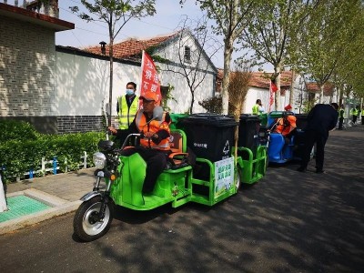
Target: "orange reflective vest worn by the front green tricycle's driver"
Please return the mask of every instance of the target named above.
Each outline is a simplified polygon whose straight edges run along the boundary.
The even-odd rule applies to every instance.
[[[166,112],[163,113],[162,120],[152,120],[147,124],[147,117],[144,115],[143,109],[136,113],[136,127],[139,133],[157,133],[159,130],[166,130],[170,134],[169,124],[166,122]],[[158,144],[151,139],[141,138],[140,145],[153,149],[167,150],[169,149],[169,137],[162,139]]]

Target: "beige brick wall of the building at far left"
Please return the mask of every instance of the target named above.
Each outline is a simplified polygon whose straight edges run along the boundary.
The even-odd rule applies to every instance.
[[[55,31],[0,16],[0,116],[53,116]]]

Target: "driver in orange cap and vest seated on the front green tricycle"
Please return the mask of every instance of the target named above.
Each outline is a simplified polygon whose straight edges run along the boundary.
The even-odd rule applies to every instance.
[[[167,112],[163,113],[161,121],[153,120],[153,110],[157,106],[157,95],[155,92],[147,91],[140,96],[143,100],[143,108],[136,112],[133,122],[128,128],[128,134],[142,134],[140,146],[129,147],[123,150],[123,156],[131,156],[138,153],[147,163],[146,177],[143,184],[143,193],[153,191],[157,177],[167,167],[167,156],[170,154],[169,136],[171,118]],[[109,127],[113,133],[120,134],[121,130]]]

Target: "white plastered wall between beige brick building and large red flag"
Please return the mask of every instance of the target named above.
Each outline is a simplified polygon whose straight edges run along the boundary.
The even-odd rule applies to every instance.
[[[116,98],[125,94],[126,83],[140,78],[140,67],[114,62],[113,115]],[[103,101],[108,102],[109,62],[86,56],[56,53],[55,116],[101,115]]]

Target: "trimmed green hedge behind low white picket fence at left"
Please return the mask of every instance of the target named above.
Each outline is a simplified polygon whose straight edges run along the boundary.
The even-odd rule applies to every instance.
[[[0,127],[5,127],[3,121],[0,122]],[[5,166],[3,180],[6,183],[15,181],[15,177],[24,177],[24,174],[30,169],[40,170],[42,157],[45,157],[45,160],[56,157],[61,171],[66,169],[66,159],[68,170],[76,170],[82,161],[80,157],[86,151],[87,166],[92,167],[92,156],[97,151],[97,143],[100,139],[105,138],[105,133],[98,132],[41,135],[36,133],[30,125],[24,124],[15,125],[15,128],[11,128],[11,126],[7,128],[18,130],[20,127],[29,129],[26,131],[27,135],[21,136],[21,134],[7,132],[7,136],[13,137],[10,140],[8,138],[7,141],[2,140],[0,142],[0,165]],[[27,137],[24,137],[25,135]],[[44,174],[38,174],[38,176],[42,175]]]

